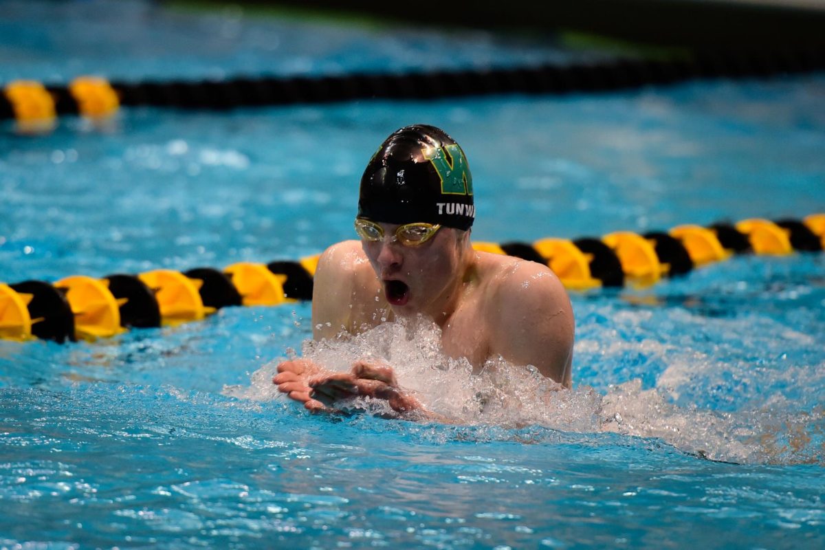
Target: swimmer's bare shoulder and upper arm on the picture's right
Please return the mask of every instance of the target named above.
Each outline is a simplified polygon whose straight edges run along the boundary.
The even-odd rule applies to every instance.
[[[572,385],[573,306],[559,278],[546,266],[520,262],[502,280],[489,304],[491,352],[512,364],[531,364],[566,388]]]

